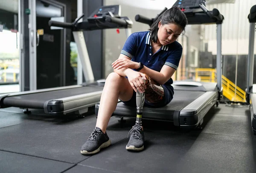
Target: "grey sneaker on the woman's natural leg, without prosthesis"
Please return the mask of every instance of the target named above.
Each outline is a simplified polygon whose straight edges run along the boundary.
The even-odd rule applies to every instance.
[[[107,135],[104,134],[99,127],[95,127],[91,136],[83,144],[81,148],[81,154],[95,154],[100,151],[101,148],[110,146],[111,141]]]

